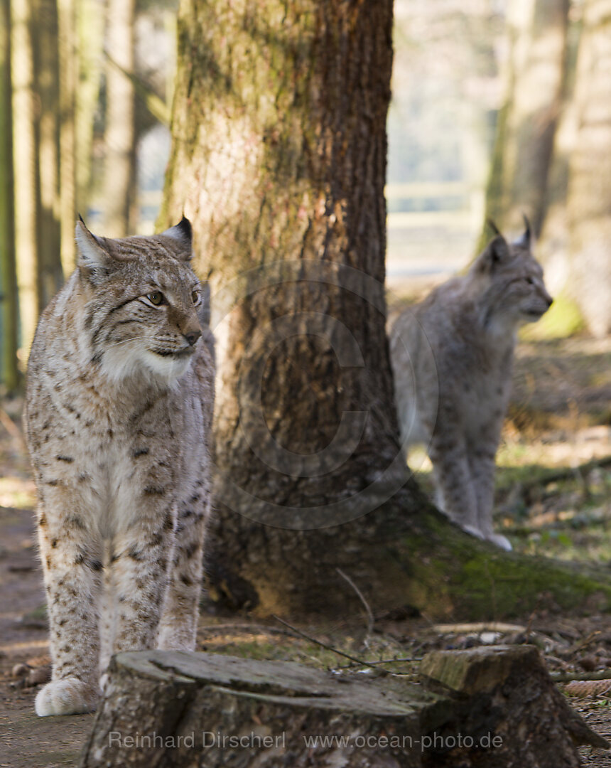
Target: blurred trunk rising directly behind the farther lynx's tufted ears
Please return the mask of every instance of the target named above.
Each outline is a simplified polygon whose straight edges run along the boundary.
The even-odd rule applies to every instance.
[[[510,0],[507,95],[486,193],[486,216],[507,229],[527,214],[538,235],[566,75],[569,0]],[[490,237],[484,227],[481,245]]]

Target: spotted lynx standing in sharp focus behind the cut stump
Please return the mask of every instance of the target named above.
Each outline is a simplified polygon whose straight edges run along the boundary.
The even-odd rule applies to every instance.
[[[93,709],[119,650],[193,650],[210,505],[213,342],[190,223],[76,236],[24,415],[53,661],[41,716]]]

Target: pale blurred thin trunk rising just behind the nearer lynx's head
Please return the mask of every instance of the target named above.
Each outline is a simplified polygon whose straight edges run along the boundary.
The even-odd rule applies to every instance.
[[[104,233],[130,234],[135,194],[134,86],[116,65],[134,71],[135,0],[108,0]]]

